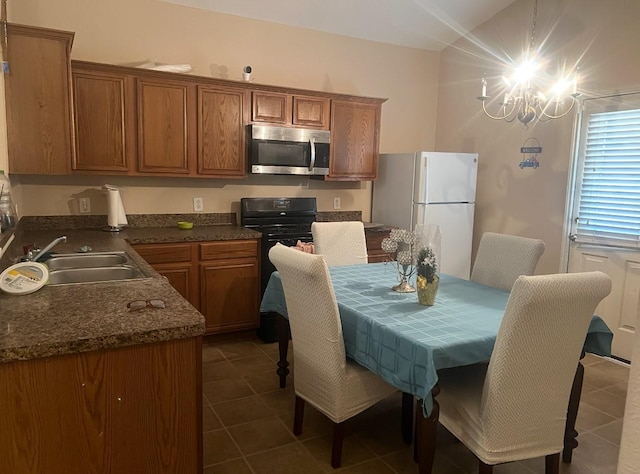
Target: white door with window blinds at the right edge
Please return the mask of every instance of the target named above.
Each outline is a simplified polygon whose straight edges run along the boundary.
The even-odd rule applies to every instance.
[[[631,360],[640,316],[640,94],[585,100],[580,119],[569,272],[600,270],[611,294],[596,314],[612,355]]]

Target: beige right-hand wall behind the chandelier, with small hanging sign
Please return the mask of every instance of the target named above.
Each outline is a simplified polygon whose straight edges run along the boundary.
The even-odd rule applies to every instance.
[[[485,231],[539,237],[547,249],[538,272],[551,273],[561,264],[573,115],[524,130],[519,123],[485,117],[476,100],[483,73],[489,81],[503,74],[496,59],[519,57],[529,39],[531,16],[532,2],[518,0],[469,39],[443,51],[436,148],[480,154],[474,248]],[[638,18],[637,0],[542,1],[537,44],[544,42],[549,72],[555,63],[579,61],[582,87],[590,96],[640,90]],[[540,168],[521,170],[520,147],[530,137],[543,148]]]

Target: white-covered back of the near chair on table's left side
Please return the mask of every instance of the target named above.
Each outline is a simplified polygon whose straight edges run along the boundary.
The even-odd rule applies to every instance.
[[[287,303],[298,394],[330,406],[346,375],[342,324],[322,255],[277,244],[269,259],[278,270]]]

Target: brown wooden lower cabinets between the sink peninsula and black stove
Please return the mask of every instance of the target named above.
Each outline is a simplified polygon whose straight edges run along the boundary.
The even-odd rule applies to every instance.
[[[206,334],[260,325],[259,240],[135,244],[133,248],[204,315]]]

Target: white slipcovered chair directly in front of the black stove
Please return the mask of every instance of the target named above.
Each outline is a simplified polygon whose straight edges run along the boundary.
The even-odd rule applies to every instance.
[[[311,224],[315,253],[330,267],[368,263],[364,224],[360,221]]]

